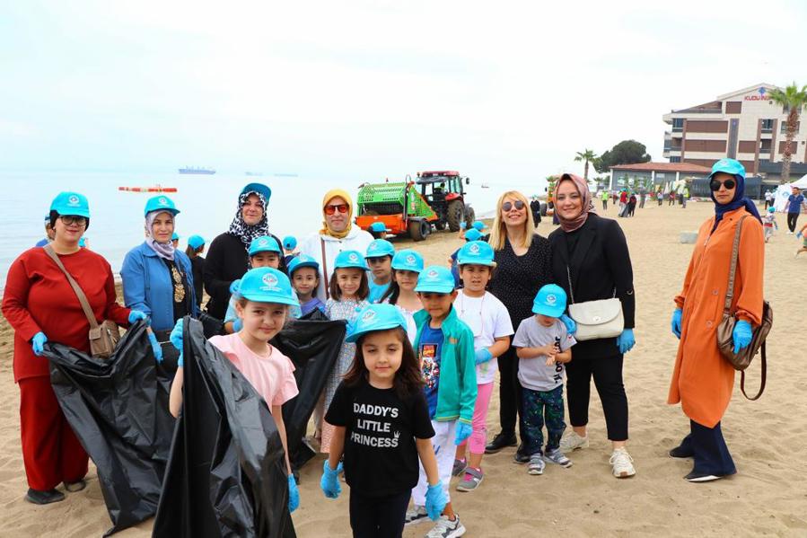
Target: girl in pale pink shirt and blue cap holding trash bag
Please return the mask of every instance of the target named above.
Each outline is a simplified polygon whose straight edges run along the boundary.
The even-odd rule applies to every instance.
[[[282,406],[294,398],[297,383],[294,380],[294,364],[269,340],[276,337],[289,317],[289,308],[297,304],[292,285],[281,271],[272,268],[250,269],[241,278],[236,308],[241,320],[241,329],[226,336],[214,336],[208,341],[227,357],[232,365],[250,382],[266,401],[275,419],[277,432],[285,452],[285,468],[288,472],[290,512],[300,505],[300,494],[294,481],[288,459]],[[182,409],[182,385],[184,384],[183,320],[180,319],[171,331],[171,344],[180,352],[177,374],[171,384],[169,406],[174,417]]]

